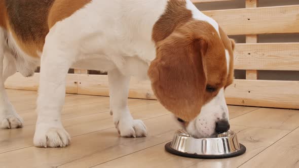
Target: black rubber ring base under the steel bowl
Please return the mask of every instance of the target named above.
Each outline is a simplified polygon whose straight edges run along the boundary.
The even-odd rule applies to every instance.
[[[170,147],[171,142],[168,142],[165,145],[165,150],[169,153],[183,156],[183,157],[191,157],[191,158],[199,158],[199,159],[223,159],[223,158],[230,158],[230,157],[236,157],[240,156],[245,153],[246,147],[242,144],[240,144],[240,150],[237,152],[229,153],[229,154],[222,154],[222,155],[200,155],[200,154],[190,154],[190,153],[183,153],[180,151],[176,151]]]

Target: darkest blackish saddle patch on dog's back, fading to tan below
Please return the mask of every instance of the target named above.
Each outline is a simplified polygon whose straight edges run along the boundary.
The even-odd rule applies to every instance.
[[[49,32],[48,12],[54,0],[6,0],[9,30],[17,45],[29,56],[38,57],[43,51]]]

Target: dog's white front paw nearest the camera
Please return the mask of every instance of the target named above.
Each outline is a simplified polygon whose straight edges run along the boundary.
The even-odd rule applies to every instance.
[[[37,125],[33,144],[36,147],[66,147],[70,144],[69,134],[63,127],[49,128],[46,125]]]

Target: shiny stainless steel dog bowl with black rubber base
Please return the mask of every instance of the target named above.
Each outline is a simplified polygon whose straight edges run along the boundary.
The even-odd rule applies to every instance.
[[[217,138],[193,138],[183,130],[178,130],[165,149],[180,156],[211,159],[235,157],[246,151],[233,131],[218,134]]]

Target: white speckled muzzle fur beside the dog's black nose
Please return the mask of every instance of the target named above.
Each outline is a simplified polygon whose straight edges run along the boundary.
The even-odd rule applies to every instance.
[[[218,120],[229,120],[229,110],[222,88],[216,97],[201,108],[200,114],[189,123],[186,131],[194,137],[212,137]]]

